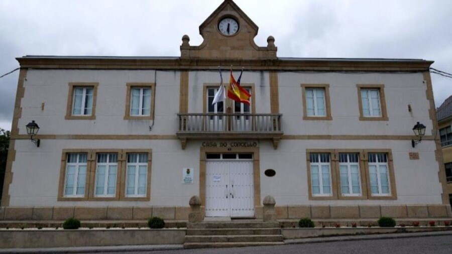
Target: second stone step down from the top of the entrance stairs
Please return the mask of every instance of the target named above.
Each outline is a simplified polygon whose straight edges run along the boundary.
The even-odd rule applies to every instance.
[[[281,234],[281,228],[188,228],[186,235]]]

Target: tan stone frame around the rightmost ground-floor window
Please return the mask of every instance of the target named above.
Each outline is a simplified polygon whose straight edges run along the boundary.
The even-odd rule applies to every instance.
[[[370,172],[369,172],[369,153],[385,153],[387,156],[388,165],[388,180],[389,180],[389,195],[373,195],[370,185]],[[364,150],[364,160],[366,162],[366,181],[367,181],[367,193],[368,199],[371,200],[396,200],[397,188],[394,172],[394,163],[392,151],[390,149],[369,149]]]

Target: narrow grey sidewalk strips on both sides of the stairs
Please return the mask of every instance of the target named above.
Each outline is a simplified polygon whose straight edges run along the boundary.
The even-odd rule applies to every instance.
[[[303,239],[288,239],[285,240],[284,242],[285,244],[304,244],[317,242],[397,239],[397,238],[441,236],[441,235],[452,235],[452,231],[314,237]],[[175,250],[175,249],[183,249],[183,245],[176,244],[176,245],[126,245],[126,246],[61,247],[61,248],[10,248],[10,249],[0,249],[0,253],[136,252],[136,251]]]

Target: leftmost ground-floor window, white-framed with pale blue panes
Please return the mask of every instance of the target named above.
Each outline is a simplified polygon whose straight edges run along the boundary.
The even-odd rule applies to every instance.
[[[64,196],[84,197],[86,184],[86,153],[68,153],[66,161],[66,177]]]

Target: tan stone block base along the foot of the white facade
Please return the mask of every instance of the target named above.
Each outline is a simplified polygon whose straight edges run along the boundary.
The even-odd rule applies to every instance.
[[[255,218],[263,218],[263,207]],[[452,218],[449,205],[276,206],[277,219]],[[0,220],[188,220],[190,207],[0,207]]]

